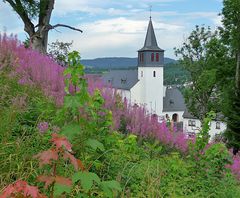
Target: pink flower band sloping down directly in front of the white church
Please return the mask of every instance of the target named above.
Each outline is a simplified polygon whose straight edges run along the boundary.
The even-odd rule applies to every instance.
[[[142,137],[155,137],[162,144],[176,148],[183,153],[188,151],[188,139],[182,132],[176,129],[169,130],[166,122],[159,123],[154,115],[148,115],[143,106],[131,105],[122,98],[117,91],[106,87],[102,81],[95,76],[88,76],[88,88],[92,94],[94,89],[101,90],[105,99],[105,108],[112,111],[113,128],[118,130],[124,120],[126,132],[134,133]]]

